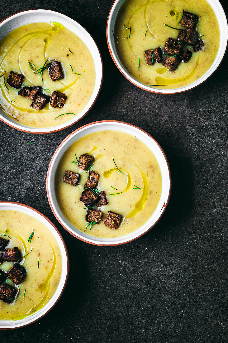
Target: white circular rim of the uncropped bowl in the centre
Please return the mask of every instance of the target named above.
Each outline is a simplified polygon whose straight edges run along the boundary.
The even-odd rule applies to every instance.
[[[53,201],[53,198],[55,197],[52,197],[52,192],[51,192],[51,188],[50,188],[50,184],[51,184],[51,179],[52,177],[55,179],[55,175],[52,176],[52,173],[53,173],[53,167],[55,166],[55,160],[56,158],[58,157],[59,155],[59,151],[61,150],[61,148],[72,138],[72,136],[76,136],[77,133],[81,132],[82,130],[85,130],[87,127],[93,127],[93,126],[96,126],[99,127],[100,124],[106,124],[106,123],[111,123],[113,124],[113,126],[115,126],[116,124],[121,124],[123,126],[129,126],[129,127],[133,127],[135,129],[135,131],[140,131],[142,134],[145,134],[148,136],[149,139],[151,139],[152,141],[154,141],[154,143],[157,145],[158,149],[160,150],[161,154],[163,155],[164,159],[165,159],[165,162],[166,162],[166,167],[167,167],[167,175],[169,177],[169,187],[168,187],[168,193],[167,193],[167,197],[166,197],[166,201],[164,202],[164,205],[162,206],[161,210],[160,210],[160,215],[159,217],[157,218],[157,220],[153,223],[153,225],[149,225],[148,228],[146,228],[141,234],[139,235],[135,235],[134,238],[132,239],[127,239],[127,237],[131,234],[128,234],[126,236],[120,236],[118,237],[119,238],[119,243],[112,243],[112,240],[110,239],[110,243],[104,243],[104,239],[103,238],[98,238],[97,237],[93,237],[93,236],[89,236],[89,235],[86,235],[85,236],[82,236],[81,235],[81,231],[78,230],[79,232],[75,232],[73,231],[69,226],[68,224],[65,222],[65,220],[62,220],[62,218],[60,217],[58,211],[56,210],[56,207],[55,207],[55,204],[54,204],[54,201]],[[113,128],[113,130],[115,130],[115,128]],[[99,130],[97,130],[99,131]],[[117,129],[118,131],[118,129]],[[124,132],[124,131],[123,131]],[[75,139],[76,141],[76,139]],[[65,152],[65,151],[64,151]],[[62,154],[61,154],[62,156]],[[75,130],[74,132],[72,132],[71,134],[69,134],[63,141],[62,143],[58,146],[58,148],[56,149],[55,153],[53,154],[52,158],[51,158],[51,161],[50,161],[50,164],[49,164],[49,167],[48,167],[48,172],[47,172],[47,180],[46,180],[46,188],[47,188],[47,196],[48,196],[48,201],[49,201],[49,205],[51,207],[51,210],[53,212],[53,214],[55,215],[56,219],[58,220],[58,222],[62,225],[62,227],[64,227],[64,229],[66,229],[72,236],[86,242],[86,243],[89,243],[89,244],[92,244],[92,245],[98,245],[98,246],[116,246],[116,245],[121,245],[121,244],[125,244],[125,243],[129,243],[141,236],[143,236],[144,234],[146,234],[149,230],[152,229],[152,227],[154,227],[154,225],[160,220],[161,216],[163,215],[163,213],[165,212],[166,208],[167,208],[167,205],[168,205],[168,202],[169,202],[169,199],[170,199],[170,194],[171,194],[171,174],[170,174],[170,167],[169,167],[169,163],[168,163],[168,160],[167,160],[167,157],[163,151],[163,149],[161,148],[160,144],[146,131],[144,131],[143,129],[135,126],[135,125],[132,125],[130,123],[126,123],[126,122],[123,122],[123,121],[119,121],[119,120],[100,120],[100,121],[95,121],[95,122],[92,122],[92,123],[88,123],[80,128],[78,128],[77,130]],[[153,214],[152,214],[153,215]],[[64,217],[64,216],[63,216]],[[65,218],[65,217],[64,217]],[[67,221],[67,220],[66,220]],[[140,229],[140,228],[139,228]],[[137,230],[139,230],[137,229]],[[137,231],[135,230],[135,232]],[[108,239],[106,239],[108,240]]]

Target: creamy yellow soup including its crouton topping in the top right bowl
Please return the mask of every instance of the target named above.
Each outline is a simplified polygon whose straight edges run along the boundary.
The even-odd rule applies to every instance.
[[[220,42],[218,21],[206,0],[128,0],[113,35],[128,72],[163,89],[199,79],[214,62]]]

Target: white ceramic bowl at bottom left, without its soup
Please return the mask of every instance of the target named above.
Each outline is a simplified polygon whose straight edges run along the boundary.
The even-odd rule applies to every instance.
[[[48,303],[39,311],[35,312],[33,315],[28,316],[24,319],[20,320],[0,320],[0,330],[7,330],[7,329],[17,329],[28,324],[31,324],[41,317],[45,316],[53,306],[56,305],[57,301],[60,299],[65,285],[67,284],[68,274],[69,274],[69,258],[67,248],[65,246],[64,240],[57,230],[57,228],[52,224],[52,222],[45,217],[42,213],[38,212],[37,210],[33,209],[30,206],[20,204],[17,202],[0,202],[0,211],[3,210],[11,210],[11,211],[20,211],[31,215],[32,217],[39,220],[42,224],[44,224],[48,230],[52,233],[55,237],[61,252],[62,257],[62,274],[60,278],[59,285],[56,289],[56,292],[52,296],[52,298],[48,301]]]

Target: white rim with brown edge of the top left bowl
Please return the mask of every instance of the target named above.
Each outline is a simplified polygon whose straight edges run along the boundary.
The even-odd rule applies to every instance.
[[[15,17],[18,17],[20,15],[29,15],[29,14],[33,14],[33,13],[50,13],[50,14],[53,14],[53,15],[58,15],[58,16],[61,16],[63,19],[65,20],[68,20],[70,21],[72,24],[75,24],[77,27],[79,27],[85,34],[87,34],[88,37],[90,37],[91,39],[91,42],[93,42],[95,44],[95,47],[96,47],[96,53],[97,55],[99,55],[99,64],[100,64],[100,69],[101,69],[101,73],[99,75],[96,74],[96,78],[98,78],[98,86],[97,86],[97,92],[96,94],[94,94],[94,99],[93,99],[93,103],[91,104],[91,106],[86,110],[84,111],[84,109],[81,111],[81,115],[78,119],[72,119],[72,120],[69,120],[57,127],[48,127],[48,128],[35,128],[35,127],[29,127],[29,126],[26,126],[26,125],[22,125],[22,124],[19,124],[17,123],[16,121],[11,121],[10,119],[8,118],[5,118],[2,114],[1,114],[1,111],[0,111],[0,120],[3,121],[5,124],[11,126],[12,128],[14,129],[17,129],[17,130],[20,130],[20,131],[23,131],[23,132],[28,132],[28,133],[36,133],[36,134],[43,134],[43,133],[53,133],[53,132],[58,132],[58,131],[61,131],[61,130],[64,130],[72,125],[74,125],[75,123],[77,123],[79,120],[81,120],[90,110],[91,108],[94,106],[98,96],[99,96],[99,93],[100,93],[100,90],[101,90],[101,86],[102,86],[102,83],[103,83],[103,77],[104,77],[104,67],[103,67],[103,60],[102,60],[102,57],[101,57],[101,53],[100,53],[100,50],[99,50],[99,47],[95,41],[95,39],[92,37],[92,35],[87,31],[87,29],[85,29],[81,24],[79,24],[78,22],[76,22],[75,20],[71,19],[70,17],[68,17],[67,15],[61,13],[61,12],[58,12],[58,11],[52,11],[52,10],[47,10],[47,9],[32,9],[32,10],[25,10],[25,11],[20,11],[20,12],[17,12],[15,14],[12,14],[10,16],[8,16],[7,18],[3,19],[1,22],[0,22],[0,29],[1,29],[1,26],[4,25],[5,23],[7,22],[10,22],[12,19],[14,19]],[[91,50],[89,49],[89,51],[91,52]],[[92,53],[91,53],[92,54]],[[96,81],[95,81],[95,84],[96,84]],[[95,86],[94,86],[94,90],[95,90]],[[94,92],[94,91],[93,91]],[[92,98],[92,96],[91,96]],[[89,100],[90,101],[90,100]],[[86,106],[85,106],[86,107]],[[54,129],[55,128],[55,129]]]

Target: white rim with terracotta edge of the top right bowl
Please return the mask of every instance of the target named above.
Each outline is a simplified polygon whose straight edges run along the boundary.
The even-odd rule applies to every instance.
[[[156,94],[177,94],[177,93],[187,92],[191,89],[194,89],[195,87],[200,86],[202,83],[207,81],[215,73],[215,71],[218,69],[218,67],[220,66],[221,62],[223,61],[223,59],[225,57],[227,45],[228,45],[227,18],[226,18],[226,14],[225,14],[225,11],[223,9],[223,6],[219,2],[219,0],[206,0],[211,7],[212,7],[212,4],[210,2],[214,2],[214,4],[217,5],[217,7],[219,8],[219,11],[223,17],[223,24],[224,24],[224,28],[225,28],[225,29],[223,28],[223,30],[221,30],[221,27],[220,27],[221,23],[218,20],[219,29],[220,29],[220,44],[219,44],[218,54],[216,55],[216,58],[212,64],[212,66],[206,71],[206,73],[204,75],[202,75],[198,80],[194,81],[193,83],[190,83],[189,85],[181,87],[181,88],[173,88],[173,89],[169,89],[169,90],[168,89],[165,90],[165,89],[152,88],[152,87],[149,87],[149,86],[143,84],[140,81],[137,81],[124,68],[122,62],[120,61],[120,59],[118,57],[118,54],[115,52],[115,49],[113,49],[113,45],[115,46],[115,42],[113,40],[114,43],[112,44],[111,34],[112,34],[113,28],[111,27],[110,23],[111,23],[112,16],[114,14],[114,11],[115,11],[117,5],[119,4],[119,2],[124,2],[124,1],[127,1],[127,0],[115,0],[112,4],[112,7],[111,7],[109,15],[108,15],[107,26],[106,26],[106,39],[107,39],[108,49],[109,49],[109,52],[110,52],[110,55],[111,55],[113,62],[116,64],[119,71],[123,74],[123,76],[128,81],[130,81],[135,86],[137,86],[137,87],[139,87],[139,88],[141,88],[147,92],[156,93]],[[216,15],[216,12],[215,12],[215,15]],[[216,17],[217,17],[217,15],[216,15]],[[115,23],[114,23],[114,25],[115,25]],[[225,44],[223,46],[221,46],[221,32],[223,32],[223,34],[224,34],[224,43]],[[221,49],[221,51],[220,51],[220,49]],[[216,59],[217,59],[217,61],[216,61]]]

